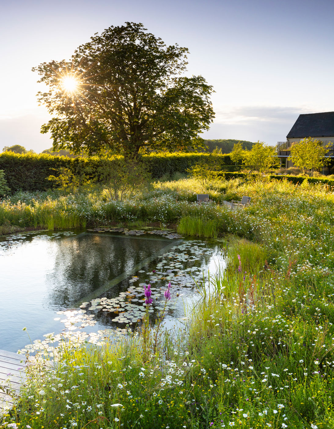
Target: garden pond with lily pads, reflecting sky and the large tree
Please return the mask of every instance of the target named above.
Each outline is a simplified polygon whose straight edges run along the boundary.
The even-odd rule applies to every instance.
[[[203,272],[224,263],[220,246],[166,231],[101,228],[25,233],[0,241],[0,349],[16,352],[47,332],[61,332],[63,312],[96,320],[86,332],[135,326],[152,286],[152,317],[172,284],[167,323],[184,316]],[[26,327],[27,332],[22,331]]]

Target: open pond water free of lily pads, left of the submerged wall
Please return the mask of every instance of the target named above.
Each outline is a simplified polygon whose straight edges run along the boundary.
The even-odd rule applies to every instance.
[[[39,233],[0,243],[0,349],[17,351],[63,327],[56,311],[110,281],[136,262],[155,257],[171,240]]]

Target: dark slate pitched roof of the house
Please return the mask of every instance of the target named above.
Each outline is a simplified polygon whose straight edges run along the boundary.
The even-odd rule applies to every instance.
[[[299,115],[287,139],[334,136],[334,112]]]

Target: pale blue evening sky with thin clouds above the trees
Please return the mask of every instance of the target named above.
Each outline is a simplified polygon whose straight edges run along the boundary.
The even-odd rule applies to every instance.
[[[215,90],[203,138],[274,145],[299,114],[334,110],[331,0],[2,0],[1,10],[0,151],[52,146],[40,134],[51,116],[38,106],[31,68],[69,60],[94,33],[125,21],[189,49],[188,76]]]

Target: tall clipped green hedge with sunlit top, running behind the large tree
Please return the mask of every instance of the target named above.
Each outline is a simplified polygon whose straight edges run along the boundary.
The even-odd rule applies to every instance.
[[[210,157],[210,154],[151,154],[144,155],[143,161],[147,164],[152,178],[160,178],[165,174],[176,172],[185,173],[188,168]],[[233,171],[232,161],[229,155],[217,155],[218,169]],[[14,154],[3,152],[0,154],[0,170],[4,170],[8,186],[12,191],[46,190],[55,186],[48,181],[49,175],[57,176],[61,167],[66,167],[73,172],[79,172],[84,166],[96,171],[98,157],[53,156],[49,154]]]

